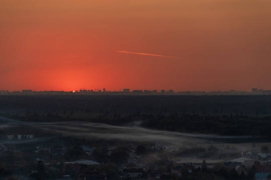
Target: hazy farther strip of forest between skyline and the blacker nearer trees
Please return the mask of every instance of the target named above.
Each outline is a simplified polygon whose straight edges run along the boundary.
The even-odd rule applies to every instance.
[[[271,95],[0,95],[2,112],[271,115]]]

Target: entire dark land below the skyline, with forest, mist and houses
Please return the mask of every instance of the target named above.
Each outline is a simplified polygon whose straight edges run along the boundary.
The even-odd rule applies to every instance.
[[[254,179],[270,120],[269,95],[2,95],[0,179]]]

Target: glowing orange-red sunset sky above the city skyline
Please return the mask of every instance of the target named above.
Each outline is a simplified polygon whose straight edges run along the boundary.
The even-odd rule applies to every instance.
[[[0,0],[0,90],[271,89],[270,8],[270,0]]]

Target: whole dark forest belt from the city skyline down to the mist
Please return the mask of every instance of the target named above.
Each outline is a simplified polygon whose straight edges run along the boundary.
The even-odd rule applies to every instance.
[[[2,95],[0,110],[29,121],[141,120],[161,130],[271,136],[271,95]]]

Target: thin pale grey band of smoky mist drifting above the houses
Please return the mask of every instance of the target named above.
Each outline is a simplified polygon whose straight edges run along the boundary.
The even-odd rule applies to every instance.
[[[110,125],[105,123],[94,123],[85,121],[60,121],[60,122],[25,122],[16,119],[0,117],[2,132],[7,130],[16,132],[16,134],[32,134],[41,133],[72,136],[86,139],[106,139],[106,140],[124,140],[124,141],[140,141],[155,142],[163,141],[169,145],[181,146],[186,142],[214,143],[228,141],[234,138],[251,138],[251,136],[223,136],[216,134],[200,134],[200,133],[181,133],[165,130],[155,130],[141,127],[140,121],[128,123],[126,125]],[[10,130],[12,129],[12,130]],[[27,131],[33,130],[33,131]],[[43,140],[36,139],[36,140]],[[11,141],[9,141],[11,142]],[[2,142],[4,143],[4,142]]]

